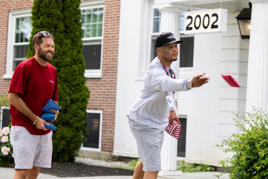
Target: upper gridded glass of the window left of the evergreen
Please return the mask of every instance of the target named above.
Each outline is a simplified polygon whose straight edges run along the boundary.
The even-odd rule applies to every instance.
[[[15,43],[28,42],[31,32],[31,17],[16,18]]]

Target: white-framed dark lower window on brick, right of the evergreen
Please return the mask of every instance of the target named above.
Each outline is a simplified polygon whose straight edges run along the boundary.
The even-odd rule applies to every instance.
[[[88,134],[84,136],[87,141],[82,144],[81,150],[100,152],[102,141],[102,111],[87,110],[87,114]]]

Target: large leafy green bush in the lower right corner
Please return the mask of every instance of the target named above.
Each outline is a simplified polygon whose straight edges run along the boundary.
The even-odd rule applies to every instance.
[[[240,133],[223,140],[220,147],[227,147],[224,152],[232,152],[231,158],[220,162],[230,169],[230,179],[265,179],[268,178],[268,114],[262,109],[253,108],[247,116],[236,115],[236,126]],[[245,127],[248,124],[249,128]],[[222,175],[216,175],[218,178]]]

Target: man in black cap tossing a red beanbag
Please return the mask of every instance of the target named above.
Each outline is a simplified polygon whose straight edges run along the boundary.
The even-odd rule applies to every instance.
[[[175,92],[200,87],[209,81],[208,77],[204,77],[205,73],[195,75],[192,79],[176,79],[174,61],[178,58],[177,44],[182,42],[183,40],[176,40],[170,32],[161,33],[156,38],[157,57],[149,65],[141,95],[127,115],[141,159],[135,167],[133,179],[156,179],[161,171],[160,153],[165,128],[174,120],[180,124],[175,112]]]

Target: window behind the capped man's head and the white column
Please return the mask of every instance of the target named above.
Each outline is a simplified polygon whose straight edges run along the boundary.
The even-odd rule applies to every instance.
[[[185,10],[180,14],[180,39],[184,40],[180,45],[180,68],[184,71],[183,68],[193,67],[193,58],[194,58],[194,36],[183,35],[183,26],[184,26],[184,15],[185,12],[189,10]],[[153,33],[151,39],[151,61],[155,57],[157,57],[156,49],[155,49],[155,39],[159,35],[160,32],[160,20],[161,13],[154,9],[154,17],[153,17]]]

